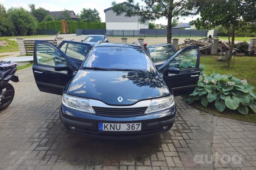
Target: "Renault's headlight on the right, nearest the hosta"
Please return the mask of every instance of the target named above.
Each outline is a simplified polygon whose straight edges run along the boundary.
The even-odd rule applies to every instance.
[[[145,111],[145,114],[171,108],[174,106],[174,104],[175,102],[173,95],[164,98],[152,99],[150,105]]]

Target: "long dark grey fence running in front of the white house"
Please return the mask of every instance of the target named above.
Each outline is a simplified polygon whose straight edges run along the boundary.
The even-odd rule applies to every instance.
[[[181,30],[172,29],[173,37],[206,37],[208,30]],[[100,34],[112,37],[166,37],[166,29],[140,29],[140,30],[93,30],[77,29],[77,35]],[[216,37],[217,31],[214,31],[213,37]]]

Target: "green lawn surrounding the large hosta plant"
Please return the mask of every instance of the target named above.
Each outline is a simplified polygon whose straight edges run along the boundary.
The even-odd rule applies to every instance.
[[[256,57],[236,57],[234,68],[224,68],[223,63],[221,61],[217,61],[218,57],[219,56],[211,55],[203,55],[200,57],[200,64],[206,66],[206,74],[211,75],[213,71],[220,74],[232,74],[234,77],[239,79],[246,78],[249,84],[256,87]],[[253,91],[256,93],[256,89]],[[200,102],[194,102],[193,105],[197,109],[213,115],[256,123],[256,114],[254,114],[251,109],[249,109],[248,115],[242,115],[238,111],[233,111],[227,108],[223,112],[219,112],[215,108],[214,103],[209,104],[207,108],[205,108]]]

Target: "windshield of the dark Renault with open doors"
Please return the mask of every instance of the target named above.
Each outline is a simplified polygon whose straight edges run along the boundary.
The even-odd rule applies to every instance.
[[[94,47],[83,67],[155,72],[154,64],[145,51],[130,47]]]

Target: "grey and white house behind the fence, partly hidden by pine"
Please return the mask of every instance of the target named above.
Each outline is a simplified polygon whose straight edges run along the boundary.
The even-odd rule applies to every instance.
[[[122,4],[128,4],[127,2],[123,2]],[[112,7],[109,7],[104,10],[105,18],[106,18],[106,29],[107,30],[140,30],[140,29],[148,29],[148,22],[141,23],[139,21],[139,16],[125,17],[124,14],[119,16],[114,13]]]

